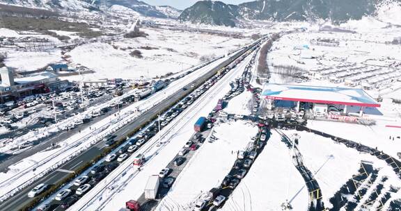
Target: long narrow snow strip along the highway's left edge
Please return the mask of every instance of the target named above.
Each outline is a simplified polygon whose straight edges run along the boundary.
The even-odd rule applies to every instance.
[[[38,172],[45,171],[46,169],[49,169],[49,167],[52,167],[54,164],[59,163],[62,160],[68,159],[68,157],[73,153],[77,153],[77,151],[80,151],[81,149],[88,148],[88,146],[91,145],[90,143],[93,143],[95,139],[99,138],[98,133],[101,134],[109,133],[107,131],[111,130],[113,126],[117,126],[118,124],[127,124],[127,119],[132,119],[134,118],[135,115],[137,115],[135,112],[132,113],[132,111],[136,110],[136,108],[139,108],[141,112],[143,112],[144,110],[152,107],[152,105],[155,105],[159,101],[162,101],[166,97],[170,96],[170,94],[173,94],[177,90],[180,90],[182,88],[182,85],[186,85],[191,81],[194,81],[196,78],[198,78],[199,74],[204,74],[205,72],[210,71],[210,69],[214,68],[216,65],[223,62],[223,60],[226,59],[227,58],[221,58],[215,62],[212,62],[212,64],[203,67],[198,71],[194,71],[188,76],[180,78],[178,81],[174,81],[173,83],[168,85],[168,87],[166,87],[164,92],[157,92],[156,94],[150,96],[148,99],[139,101],[137,103],[133,103],[132,105],[129,105],[127,108],[123,108],[120,112],[120,116],[123,116],[123,114],[127,114],[129,118],[127,117],[125,119],[120,119],[119,117],[114,117],[114,116],[106,117],[101,121],[97,121],[97,123],[91,125],[91,128],[96,128],[96,130],[91,130],[91,128],[86,128],[84,130],[81,130],[81,133],[72,135],[70,138],[68,138],[68,140],[61,142],[60,145],[62,147],[54,149],[52,151],[36,153],[30,156],[29,158],[25,158],[21,162],[18,162],[10,166],[9,167],[11,169],[10,171],[8,171],[6,174],[1,173],[0,183],[1,187],[3,188],[1,188],[0,195],[2,196],[3,194],[6,194],[10,190],[15,189],[15,187],[18,187],[22,183],[25,183],[27,180],[31,180],[31,178],[36,176]],[[109,103],[111,103],[111,101],[105,104],[109,105]],[[102,108],[102,106],[104,105],[99,105],[99,108]],[[48,135],[48,133],[56,133],[57,131],[58,131],[57,127],[55,126],[53,130],[45,130],[43,133],[45,133],[44,135]],[[38,138],[40,135],[42,135],[42,132],[40,134],[37,134],[37,136],[34,138]],[[23,141],[26,140],[22,140],[21,142]],[[16,144],[18,144],[18,142]],[[74,147],[76,144],[78,144],[77,147]],[[52,158],[52,156],[54,157],[54,155],[57,155],[57,157]],[[52,160],[48,160],[49,158],[52,158]],[[45,160],[47,160],[47,162],[45,162]],[[32,169],[34,167],[32,163],[35,163],[36,165],[40,164],[39,167],[36,167],[36,173],[33,171],[28,171],[29,169]],[[8,180],[10,178],[13,178],[13,180]]]

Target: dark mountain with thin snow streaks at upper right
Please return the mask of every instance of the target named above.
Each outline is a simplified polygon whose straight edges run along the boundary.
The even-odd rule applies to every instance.
[[[198,1],[194,6],[185,9],[179,19],[194,24],[223,26],[236,26],[241,19],[331,19],[334,23],[340,23],[349,19],[361,19],[364,15],[375,15],[377,6],[382,1],[387,0],[258,0],[238,6],[221,1]]]

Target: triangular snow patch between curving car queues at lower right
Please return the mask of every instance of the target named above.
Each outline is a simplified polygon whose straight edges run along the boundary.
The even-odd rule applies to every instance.
[[[349,124],[347,124],[349,127]],[[327,125],[325,125],[328,128]],[[345,127],[332,126],[338,131]],[[336,144],[333,140],[308,133],[306,131],[283,130],[289,137],[297,134],[299,137],[299,151],[304,158],[304,164],[313,172],[315,180],[322,190],[324,205],[331,207],[329,199],[338,192],[340,187],[345,185],[347,180],[353,175],[358,174],[358,170],[363,162],[372,162],[373,167],[384,169],[389,183],[395,187],[401,187],[401,180],[395,175],[392,167],[388,166],[384,160],[379,160],[375,156],[366,153],[359,153],[355,149],[350,149],[344,144]],[[349,131],[345,131],[347,133]],[[365,133],[366,130],[359,130],[359,135],[372,135]],[[338,134],[338,133],[336,133]],[[341,133],[343,134],[343,133]],[[365,144],[364,142],[361,142]],[[382,146],[382,145],[380,145]],[[298,210],[298,209],[296,209]]]

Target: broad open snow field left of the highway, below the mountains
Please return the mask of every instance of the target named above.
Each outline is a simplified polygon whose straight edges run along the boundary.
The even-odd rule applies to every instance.
[[[154,78],[198,65],[202,56],[222,56],[251,42],[248,38],[233,39],[158,28],[143,28],[141,31],[148,37],[81,45],[68,53],[71,56],[69,60],[95,71],[85,74],[84,79]],[[134,50],[141,51],[143,58],[130,56]],[[77,77],[67,78],[80,79]]]

